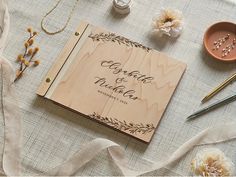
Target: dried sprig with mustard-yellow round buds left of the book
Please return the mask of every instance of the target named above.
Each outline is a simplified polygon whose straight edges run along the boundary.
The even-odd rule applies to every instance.
[[[39,51],[39,48],[33,47],[34,38],[38,33],[36,31],[33,31],[32,28],[28,28],[27,32],[29,33],[29,38],[24,43],[24,53],[19,54],[16,59],[16,61],[20,63],[20,67],[16,71],[14,82],[16,82],[23,75],[24,71],[29,66],[38,66],[40,64],[39,60],[34,60],[35,55]]]

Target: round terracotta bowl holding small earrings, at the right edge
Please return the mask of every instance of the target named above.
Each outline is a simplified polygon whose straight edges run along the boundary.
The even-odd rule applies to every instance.
[[[236,24],[219,22],[210,26],[204,35],[204,47],[215,59],[236,61]]]

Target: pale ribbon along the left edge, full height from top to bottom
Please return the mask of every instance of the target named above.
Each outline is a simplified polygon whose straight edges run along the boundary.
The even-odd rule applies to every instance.
[[[2,169],[4,175],[20,175],[21,122],[14,93],[13,69],[2,52],[9,32],[10,17],[5,0],[0,0],[0,79],[1,111],[4,122],[4,146]],[[3,175],[2,174],[2,175]]]

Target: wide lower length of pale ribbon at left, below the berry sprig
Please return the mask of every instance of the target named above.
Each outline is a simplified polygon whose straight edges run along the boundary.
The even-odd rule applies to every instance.
[[[1,66],[1,97],[4,122],[4,149],[2,168],[6,175],[20,175],[21,119],[14,92],[14,74],[11,65],[3,57]]]

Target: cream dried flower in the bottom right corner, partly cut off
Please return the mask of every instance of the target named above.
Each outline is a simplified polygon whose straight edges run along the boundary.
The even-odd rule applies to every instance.
[[[197,153],[191,163],[192,170],[198,176],[232,176],[233,162],[219,149],[209,148]]]

